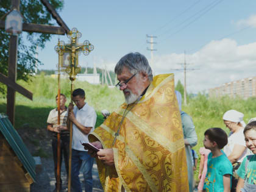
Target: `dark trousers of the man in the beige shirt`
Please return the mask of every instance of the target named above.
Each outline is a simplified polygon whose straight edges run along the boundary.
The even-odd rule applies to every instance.
[[[57,138],[52,138],[52,153],[54,157],[54,174],[57,182]],[[68,176],[68,154],[69,154],[69,136],[60,137],[60,172],[62,168],[62,154],[65,161],[66,174]],[[60,177],[60,183],[62,184],[62,178]]]

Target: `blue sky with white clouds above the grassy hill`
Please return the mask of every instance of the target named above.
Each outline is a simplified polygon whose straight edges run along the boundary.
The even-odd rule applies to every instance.
[[[76,27],[94,50],[80,54],[82,67],[115,68],[123,55],[145,55],[155,75],[174,73],[183,84],[182,69],[187,63],[187,91],[198,93],[238,79],[255,76],[256,66],[255,0],[66,0],[59,13],[69,29]],[[57,26],[57,24],[55,24]],[[155,36],[153,57],[151,38]],[[52,35],[38,59],[39,69],[57,69]],[[191,70],[194,69],[194,70]]]

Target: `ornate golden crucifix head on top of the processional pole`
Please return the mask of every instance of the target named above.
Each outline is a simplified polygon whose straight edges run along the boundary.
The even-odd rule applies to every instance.
[[[55,46],[55,51],[59,53],[61,67],[65,68],[71,80],[76,79],[76,74],[80,71],[78,62],[79,52],[83,51],[84,55],[88,55],[94,49],[94,46],[88,40],[85,40],[84,44],[78,44],[78,38],[81,36],[82,34],[76,28],[73,28],[68,33],[68,38],[71,41],[70,44],[59,41],[58,45]],[[65,60],[63,60],[64,54],[69,54],[68,65],[65,65]]]

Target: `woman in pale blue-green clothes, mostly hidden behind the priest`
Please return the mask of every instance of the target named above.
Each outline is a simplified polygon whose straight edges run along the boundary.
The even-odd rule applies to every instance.
[[[194,185],[194,171],[193,171],[193,157],[191,148],[193,146],[196,146],[197,144],[197,135],[196,130],[194,129],[194,124],[191,119],[191,117],[185,113],[182,112],[181,106],[182,106],[182,95],[179,91],[175,91],[176,98],[179,104],[180,109],[180,117],[182,119],[182,129],[183,129],[183,135],[184,135],[184,141],[185,141],[185,151],[186,151],[186,157],[187,157],[187,166],[188,166],[188,182],[190,187],[190,192],[193,192],[193,185]]]

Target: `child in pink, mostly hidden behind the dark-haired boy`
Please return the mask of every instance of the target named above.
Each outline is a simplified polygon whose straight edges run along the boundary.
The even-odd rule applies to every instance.
[[[203,187],[204,187],[204,179],[205,179],[205,176],[207,173],[208,154],[210,154],[210,152],[211,151],[209,149],[205,149],[205,148],[199,149],[201,158],[200,158],[199,175],[198,175],[198,179],[199,179],[199,183],[198,183],[198,187],[197,187],[198,192],[202,192]]]

